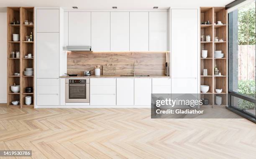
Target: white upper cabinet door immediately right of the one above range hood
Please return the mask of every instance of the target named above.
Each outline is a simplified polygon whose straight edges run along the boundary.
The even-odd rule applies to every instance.
[[[92,12],[92,50],[110,51],[110,12]]]

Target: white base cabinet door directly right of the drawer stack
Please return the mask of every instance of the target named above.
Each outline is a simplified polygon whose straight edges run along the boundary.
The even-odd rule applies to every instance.
[[[134,78],[116,79],[116,105],[134,105]]]

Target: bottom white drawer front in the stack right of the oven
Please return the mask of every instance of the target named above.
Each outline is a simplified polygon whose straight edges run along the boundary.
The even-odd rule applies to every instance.
[[[114,106],[115,94],[91,94],[90,105],[92,106]]]

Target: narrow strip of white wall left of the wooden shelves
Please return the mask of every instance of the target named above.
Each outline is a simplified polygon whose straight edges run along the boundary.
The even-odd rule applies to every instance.
[[[7,95],[7,14],[0,13],[0,103],[6,103]]]

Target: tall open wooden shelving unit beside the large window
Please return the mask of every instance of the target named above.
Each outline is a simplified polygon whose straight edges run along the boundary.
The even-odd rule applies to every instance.
[[[215,103],[215,96],[223,96],[222,104],[226,105],[227,101],[224,96],[228,93],[228,18],[225,7],[201,7],[201,35],[210,35],[210,42],[201,41],[201,50],[207,50],[207,58],[201,58],[201,85],[209,86],[207,93],[201,93],[201,98],[207,98],[210,105]],[[202,22],[210,21],[205,25]],[[221,21],[223,25],[216,25]],[[214,42],[214,38],[223,39],[223,42]],[[214,51],[222,50],[223,58],[214,58]],[[214,75],[214,67],[217,66],[222,76]],[[203,76],[203,70],[207,69],[207,76]],[[215,89],[221,89],[222,93],[216,93]]]

